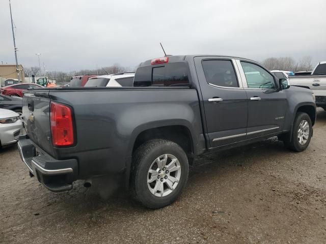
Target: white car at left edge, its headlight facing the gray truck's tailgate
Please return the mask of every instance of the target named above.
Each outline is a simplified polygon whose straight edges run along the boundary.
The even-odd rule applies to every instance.
[[[0,146],[16,143],[21,134],[23,128],[19,114],[0,108]]]

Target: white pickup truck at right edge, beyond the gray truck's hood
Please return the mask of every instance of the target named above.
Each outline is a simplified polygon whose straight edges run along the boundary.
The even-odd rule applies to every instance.
[[[289,76],[291,85],[309,88],[316,96],[316,105],[326,110],[326,61],[320,62],[311,75]]]

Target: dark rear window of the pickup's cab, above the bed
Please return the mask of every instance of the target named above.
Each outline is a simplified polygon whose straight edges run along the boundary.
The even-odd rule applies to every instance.
[[[140,67],[133,81],[134,86],[184,86],[188,84],[187,66],[181,62]]]

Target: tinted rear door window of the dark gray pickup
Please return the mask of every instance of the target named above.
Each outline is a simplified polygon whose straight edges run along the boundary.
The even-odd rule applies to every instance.
[[[239,87],[231,60],[203,60],[207,83],[223,87]]]

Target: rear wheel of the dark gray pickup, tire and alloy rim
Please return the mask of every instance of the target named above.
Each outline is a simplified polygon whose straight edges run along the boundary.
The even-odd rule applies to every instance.
[[[148,208],[173,203],[188,178],[188,160],[183,149],[173,141],[151,140],[133,155],[130,188],[133,197]]]

